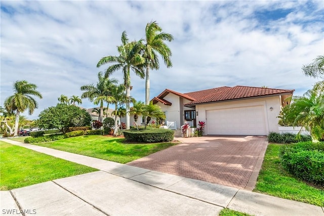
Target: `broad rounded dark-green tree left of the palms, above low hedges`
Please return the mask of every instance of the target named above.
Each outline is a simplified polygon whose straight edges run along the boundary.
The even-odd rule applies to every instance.
[[[69,127],[90,126],[91,121],[91,116],[85,109],[68,104],[57,104],[39,113],[37,122],[39,127],[57,128],[65,134]]]

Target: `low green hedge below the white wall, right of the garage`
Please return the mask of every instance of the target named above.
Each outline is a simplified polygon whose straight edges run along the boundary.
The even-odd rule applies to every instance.
[[[312,138],[309,135],[296,135],[291,133],[279,134],[276,132],[270,132],[268,135],[268,141],[272,143],[297,143],[311,140]]]

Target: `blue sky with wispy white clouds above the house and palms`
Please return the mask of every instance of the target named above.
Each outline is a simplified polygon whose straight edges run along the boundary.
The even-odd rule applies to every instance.
[[[323,1],[1,1],[0,102],[23,79],[43,94],[34,114],[24,113],[30,119],[62,94],[81,96],[105,70],[100,58],[118,55],[121,33],[144,38],[150,21],[175,38],[173,67],[160,60],[150,73],[150,98],[235,85],[302,95],[316,79],[301,67],[324,53],[323,11]],[[121,71],[112,76],[122,81]],[[131,82],[131,95],[145,101],[145,80],[132,73]]]

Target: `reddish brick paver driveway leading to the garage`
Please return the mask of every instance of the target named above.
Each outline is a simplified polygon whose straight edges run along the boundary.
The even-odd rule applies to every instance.
[[[263,136],[207,136],[176,140],[182,143],[128,165],[253,190],[268,144]]]

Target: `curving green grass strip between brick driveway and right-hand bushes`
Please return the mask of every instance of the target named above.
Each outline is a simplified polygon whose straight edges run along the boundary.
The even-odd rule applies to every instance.
[[[254,191],[323,207],[324,190],[308,185],[281,167],[280,146],[268,145]]]

